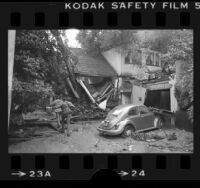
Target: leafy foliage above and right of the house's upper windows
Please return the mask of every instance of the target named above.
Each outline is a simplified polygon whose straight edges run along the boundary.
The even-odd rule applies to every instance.
[[[143,41],[145,47],[158,50],[163,54],[162,62],[175,72],[175,62],[184,63],[181,79],[176,83],[175,96],[180,109],[188,112],[193,122],[193,32],[192,30],[151,31]]]

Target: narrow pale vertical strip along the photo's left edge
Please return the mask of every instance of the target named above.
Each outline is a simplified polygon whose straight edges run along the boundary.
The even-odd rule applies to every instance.
[[[15,54],[15,30],[8,31],[8,130],[10,121],[10,109],[12,102],[12,78]]]

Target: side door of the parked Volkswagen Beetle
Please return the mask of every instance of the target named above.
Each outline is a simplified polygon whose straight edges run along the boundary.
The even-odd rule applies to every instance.
[[[146,106],[139,106],[140,130],[153,127],[154,115]]]

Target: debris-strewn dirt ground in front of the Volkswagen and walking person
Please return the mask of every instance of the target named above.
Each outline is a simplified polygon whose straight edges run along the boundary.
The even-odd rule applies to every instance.
[[[54,123],[56,126],[56,123]],[[154,130],[146,139],[99,135],[100,121],[71,124],[70,137],[47,125],[21,127],[9,138],[9,153],[192,153],[193,134],[180,129]],[[15,131],[16,132],[16,131]],[[30,132],[27,134],[27,132]],[[143,133],[142,133],[143,134]],[[171,135],[175,134],[175,137]],[[22,135],[25,135],[24,137]],[[27,136],[28,135],[28,136]],[[25,139],[23,139],[25,138]],[[27,138],[27,139],[26,139]],[[172,139],[169,139],[172,138]],[[168,140],[169,139],[169,140]]]

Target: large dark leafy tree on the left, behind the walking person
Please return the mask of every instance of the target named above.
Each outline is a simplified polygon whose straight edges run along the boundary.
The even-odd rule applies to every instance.
[[[70,51],[60,42],[62,33],[54,30],[17,31],[11,124],[15,124],[22,113],[46,106],[49,95],[66,94],[65,78],[73,71],[68,68],[72,61]]]

